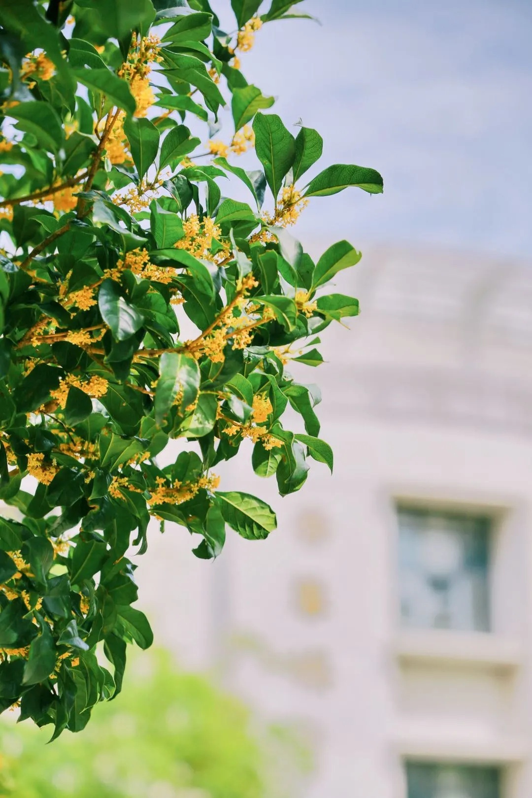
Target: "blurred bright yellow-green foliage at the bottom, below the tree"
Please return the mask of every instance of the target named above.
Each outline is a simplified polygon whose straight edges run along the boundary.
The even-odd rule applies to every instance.
[[[7,717],[6,717],[7,715]],[[269,744],[249,711],[171,655],[134,658],[120,701],[83,735],[0,725],[0,795],[9,798],[266,798]],[[271,733],[267,734],[270,737]],[[282,746],[290,740],[281,737]],[[270,749],[271,753],[271,749]],[[297,753],[294,749],[294,753]],[[278,796],[280,793],[275,791]]]

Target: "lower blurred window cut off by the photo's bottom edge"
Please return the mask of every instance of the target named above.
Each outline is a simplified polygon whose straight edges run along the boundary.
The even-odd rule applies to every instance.
[[[408,798],[501,798],[499,768],[407,763]]]

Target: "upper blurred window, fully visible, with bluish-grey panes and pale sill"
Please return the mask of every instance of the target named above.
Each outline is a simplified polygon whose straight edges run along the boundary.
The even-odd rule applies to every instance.
[[[403,626],[488,631],[490,519],[399,508]]]

